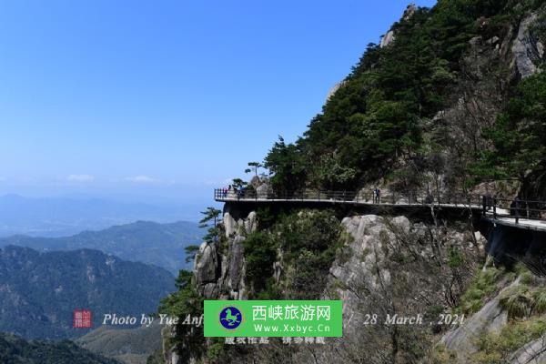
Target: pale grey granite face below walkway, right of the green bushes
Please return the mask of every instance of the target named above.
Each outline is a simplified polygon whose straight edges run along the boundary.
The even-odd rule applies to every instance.
[[[453,279],[450,249],[478,268],[486,240],[464,224],[435,226],[405,216],[352,216],[342,225],[350,238],[329,270],[323,298],[343,301],[343,340],[330,340],[313,357],[298,351],[296,358],[306,363],[333,363],[340,356],[410,362],[396,349],[397,340],[411,337],[426,346],[430,327],[390,325],[387,319],[418,314],[434,318],[432,307],[447,311],[450,294],[462,289],[447,284]],[[460,278],[469,279],[463,270]]]

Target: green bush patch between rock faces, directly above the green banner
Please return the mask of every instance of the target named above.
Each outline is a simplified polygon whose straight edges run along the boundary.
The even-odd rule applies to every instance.
[[[262,214],[263,215],[263,214]],[[301,210],[284,215],[244,242],[246,279],[259,298],[318,298],[336,252],[342,246],[339,220],[329,210]],[[288,268],[273,281],[273,263]]]

